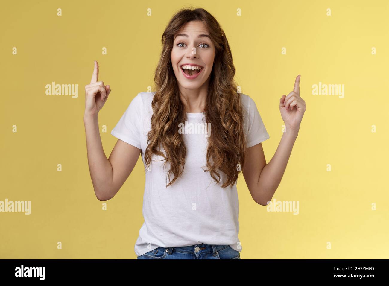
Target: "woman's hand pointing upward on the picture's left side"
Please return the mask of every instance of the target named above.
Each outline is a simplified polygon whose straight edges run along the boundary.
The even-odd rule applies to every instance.
[[[107,101],[108,95],[111,92],[109,85],[104,85],[104,82],[98,80],[98,63],[95,61],[95,68],[91,83],[85,86],[85,114],[97,115],[100,109]]]

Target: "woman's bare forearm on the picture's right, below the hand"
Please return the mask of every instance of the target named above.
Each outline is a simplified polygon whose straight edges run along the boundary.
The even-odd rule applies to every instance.
[[[261,198],[262,205],[266,205],[277,190],[297,135],[298,130],[287,130],[287,132],[284,132],[273,158],[263,167],[258,181],[258,197]]]

